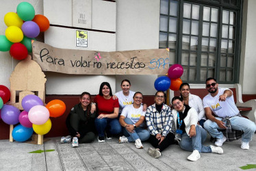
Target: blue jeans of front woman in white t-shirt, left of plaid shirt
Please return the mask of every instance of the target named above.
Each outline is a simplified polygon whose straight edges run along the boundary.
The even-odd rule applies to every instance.
[[[130,118],[125,118],[125,123],[127,124],[133,124],[133,122],[131,122]],[[127,131],[124,127],[123,127],[123,134],[125,135],[125,137],[128,138],[129,142],[135,142],[135,140],[140,139],[142,142],[146,141],[149,139],[150,133],[148,130],[146,129],[142,129],[141,127],[137,127],[134,130],[134,133],[130,133],[129,131]]]

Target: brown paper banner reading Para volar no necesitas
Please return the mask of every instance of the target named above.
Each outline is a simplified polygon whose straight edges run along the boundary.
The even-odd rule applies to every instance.
[[[168,49],[86,51],[60,49],[34,41],[33,60],[43,71],[73,75],[165,75]]]

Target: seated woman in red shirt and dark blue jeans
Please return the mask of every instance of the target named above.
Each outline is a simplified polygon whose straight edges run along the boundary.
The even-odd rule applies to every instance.
[[[99,94],[94,98],[94,102],[97,103],[99,109],[99,116],[95,119],[95,126],[99,133],[98,142],[105,142],[105,132],[107,140],[111,140],[113,134],[121,132],[121,126],[117,120],[118,98],[114,100],[112,96],[110,83],[101,83]]]

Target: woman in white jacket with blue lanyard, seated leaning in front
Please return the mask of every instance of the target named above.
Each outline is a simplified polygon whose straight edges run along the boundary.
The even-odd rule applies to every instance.
[[[173,124],[175,126],[175,139],[180,141],[179,146],[183,150],[192,151],[188,160],[197,161],[200,159],[200,153],[218,153],[222,154],[223,150],[215,146],[203,146],[207,132],[201,126],[197,125],[198,114],[196,110],[185,105],[182,98],[175,96],[172,98]]]

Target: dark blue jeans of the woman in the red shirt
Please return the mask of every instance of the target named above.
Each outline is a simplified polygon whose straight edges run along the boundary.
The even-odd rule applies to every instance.
[[[104,137],[105,131],[110,134],[118,134],[122,131],[121,125],[116,118],[96,118],[95,127],[99,133],[99,137]]]

